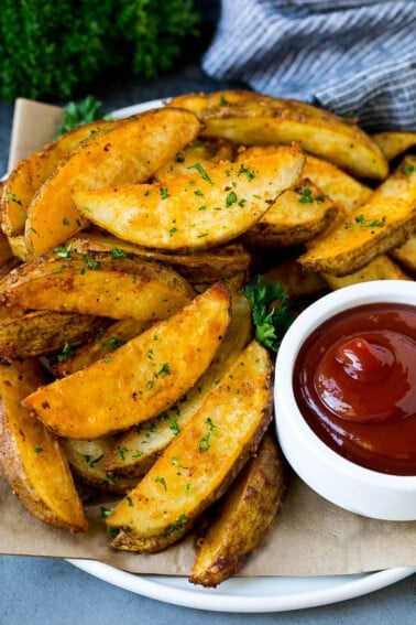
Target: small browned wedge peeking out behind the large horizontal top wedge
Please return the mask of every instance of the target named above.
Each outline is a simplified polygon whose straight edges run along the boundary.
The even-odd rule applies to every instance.
[[[208,170],[221,161],[232,161],[236,148],[234,143],[226,139],[198,139],[162,165],[153,177],[158,182],[164,182],[177,175],[190,174],[194,172],[191,168],[195,163]]]

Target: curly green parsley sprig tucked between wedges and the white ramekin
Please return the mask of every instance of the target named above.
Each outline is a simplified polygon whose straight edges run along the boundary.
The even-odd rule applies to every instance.
[[[250,302],[255,338],[277,352],[283,335],[293,322],[289,300],[278,282],[267,282],[263,276],[254,279],[243,289]]]

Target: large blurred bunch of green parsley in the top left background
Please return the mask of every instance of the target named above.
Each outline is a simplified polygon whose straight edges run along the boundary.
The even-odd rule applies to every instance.
[[[152,78],[198,35],[191,0],[2,0],[0,96],[65,100],[121,68]]]

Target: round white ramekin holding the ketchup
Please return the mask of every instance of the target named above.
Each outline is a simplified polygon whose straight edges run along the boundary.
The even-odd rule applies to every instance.
[[[346,287],[319,299],[294,321],[276,358],[274,402],[277,438],[298,476],[329,502],[371,518],[416,520],[416,475],[379,473],[332,451],[306,423],[293,390],[297,354],[316,327],[348,309],[383,302],[416,306],[416,282],[376,280]]]

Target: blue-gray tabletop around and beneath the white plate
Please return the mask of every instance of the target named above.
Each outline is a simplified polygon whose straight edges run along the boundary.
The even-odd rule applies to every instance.
[[[212,15],[210,15],[211,18]],[[209,36],[207,24],[205,36]],[[205,40],[207,42],[208,39]],[[202,42],[204,44],[204,42]],[[97,85],[94,95],[110,111],[132,104],[188,91],[212,91],[236,85],[217,83],[200,69],[200,50],[189,51],[191,63],[158,79],[125,77]],[[237,85],[238,86],[238,85]],[[63,103],[51,103],[63,104]],[[6,172],[13,105],[0,100],[0,171]],[[1,549],[0,549],[1,551]],[[245,614],[244,623],[402,623],[415,622],[416,575],[359,599],[299,611]],[[50,623],[218,623],[241,622],[241,614],[179,607],[122,590],[58,559],[0,556],[0,625]]]

